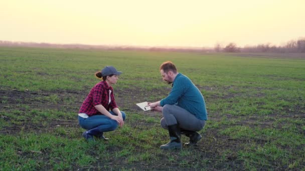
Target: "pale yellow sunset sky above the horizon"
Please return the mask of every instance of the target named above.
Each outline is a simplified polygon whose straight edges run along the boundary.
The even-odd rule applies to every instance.
[[[305,0],[1,0],[0,40],[99,45],[281,45]]]

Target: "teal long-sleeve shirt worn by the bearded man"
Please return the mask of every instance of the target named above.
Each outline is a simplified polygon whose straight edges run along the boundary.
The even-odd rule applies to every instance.
[[[191,79],[182,73],[178,73],[176,76],[169,96],[160,101],[161,106],[165,104],[178,105],[194,114],[200,120],[208,119],[203,95]]]

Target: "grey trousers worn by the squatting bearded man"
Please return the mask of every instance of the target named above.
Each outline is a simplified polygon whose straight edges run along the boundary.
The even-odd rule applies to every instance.
[[[162,108],[163,118],[160,120],[161,126],[168,129],[168,125],[179,123],[179,127],[191,130],[201,130],[206,121],[198,119],[194,114],[177,105],[166,104]]]

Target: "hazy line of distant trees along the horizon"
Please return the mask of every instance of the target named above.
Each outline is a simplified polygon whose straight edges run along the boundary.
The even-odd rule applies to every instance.
[[[148,47],[148,46],[128,46],[128,45],[88,45],[88,44],[55,44],[55,43],[38,43],[23,41],[6,41],[0,40],[0,46],[19,46],[19,47],[44,47],[44,48],[80,48],[80,49],[116,49],[116,50],[150,50],[150,51],[197,51],[197,52],[305,52],[305,37],[297,40],[290,40],[283,45],[276,46],[271,43],[237,46],[236,43],[230,42],[225,46],[216,43],[214,48],[202,47]]]

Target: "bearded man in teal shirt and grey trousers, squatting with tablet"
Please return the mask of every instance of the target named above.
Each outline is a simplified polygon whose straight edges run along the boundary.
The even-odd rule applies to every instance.
[[[169,130],[171,140],[160,148],[182,148],[181,134],[190,137],[187,145],[196,145],[202,137],[197,131],[204,127],[208,119],[204,97],[190,78],[178,72],[173,62],[163,62],[160,73],[163,80],[173,83],[166,98],[148,103],[150,108],[163,113],[161,126]]]

